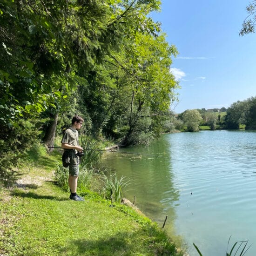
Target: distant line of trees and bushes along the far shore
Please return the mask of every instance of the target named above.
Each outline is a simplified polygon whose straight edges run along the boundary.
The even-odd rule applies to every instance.
[[[256,129],[256,98],[236,101],[229,108],[192,109],[174,115],[165,123],[166,132],[199,129]]]

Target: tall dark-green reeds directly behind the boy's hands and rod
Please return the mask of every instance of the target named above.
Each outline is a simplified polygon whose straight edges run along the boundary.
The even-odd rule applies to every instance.
[[[81,147],[84,149],[84,155],[81,157],[82,167],[95,166],[101,160],[102,145],[100,142],[93,139],[89,135],[81,135]]]

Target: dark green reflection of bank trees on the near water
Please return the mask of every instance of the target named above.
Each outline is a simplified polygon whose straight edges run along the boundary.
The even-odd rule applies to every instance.
[[[122,148],[126,154],[108,152],[102,166],[112,168],[119,178],[126,176],[131,184],[125,197],[147,214],[153,221],[162,224],[175,220],[175,205],[179,201],[179,190],[175,188],[169,141],[161,140],[150,147]],[[128,152],[145,155],[129,155]]]

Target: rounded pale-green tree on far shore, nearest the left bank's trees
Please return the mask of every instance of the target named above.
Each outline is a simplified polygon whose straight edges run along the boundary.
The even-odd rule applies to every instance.
[[[196,109],[183,112],[182,119],[189,131],[199,131],[199,124],[202,121],[202,116]]]

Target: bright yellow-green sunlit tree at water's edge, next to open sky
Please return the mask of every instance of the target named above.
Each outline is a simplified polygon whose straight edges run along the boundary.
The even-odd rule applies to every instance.
[[[118,56],[116,59],[128,81],[121,86],[123,95],[127,94],[129,99],[129,106],[126,106],[129,129],[122,140],[123,144],[133,143],[134,140],[131,141],[130,138],[134,133],[140,133],[138,125],[141,119],[146,123],[147,118],[154,120],[157,115],[163,115],[169,111],[170,102],[175,99],[173,90],[178,87],[178,83],[169,68],[172,63],[171,56],[177,50],[168,45],[165,36],[138,34],[133,44],[135,47],[128,51],[125,48],[124,57]],[[157,124],[161,126],[160,121],[153,122],[150,126],[156,128]],[[140,131],[144,133],[142,126]]]

